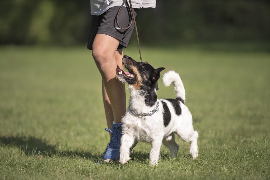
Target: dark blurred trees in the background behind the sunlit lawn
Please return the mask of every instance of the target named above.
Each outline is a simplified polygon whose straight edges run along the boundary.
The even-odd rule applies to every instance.
[[[86,44],[90,22],[90,0],[1,0],[0,44]],[[145,44],[269,41],[270,1],[157,0],[137,26]]]

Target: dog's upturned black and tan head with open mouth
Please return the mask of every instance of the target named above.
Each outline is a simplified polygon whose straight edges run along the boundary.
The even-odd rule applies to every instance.
[[[143,90],[144,88],[158,90],[157,81],[160,78],[160,72],[165,69],[164,67],[155,69],[147,62],[137,62],[127,55],[124,55],[122,63],[128,72],[116,69],[117,79],[133,86],[135,90]]]

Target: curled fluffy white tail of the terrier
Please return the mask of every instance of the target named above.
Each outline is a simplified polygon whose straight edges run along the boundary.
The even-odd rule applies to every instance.
[[[185,104],[186,101],[186,93],[184,89],[184,84],[178,73],[174,71],[168,71],[163,75],[163,84],[165,86],[170,86],[173,83],[174,90],[176,93],[176,99],[182,101]]]

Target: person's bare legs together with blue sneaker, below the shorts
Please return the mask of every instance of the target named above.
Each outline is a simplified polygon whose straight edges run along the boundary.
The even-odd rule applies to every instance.
[[[117,49],[119,40],[106,34],[97,34],[92,55],[102,77],[103,101],[111,139],[103,154],[105,162],[119,160],[120,123],[126,111],[125,85],[115,78],[117,66],[122,67],[123,50]]]

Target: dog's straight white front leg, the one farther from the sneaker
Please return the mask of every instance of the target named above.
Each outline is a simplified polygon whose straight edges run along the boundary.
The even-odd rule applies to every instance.
[[[150,155],[149,155],[150,166],[157,166],[158,165],[161,144],[162,144],[162,137],[159,139],[154,139],[152,141],[152,147],[151,147],[151,151],[150,151]]]

